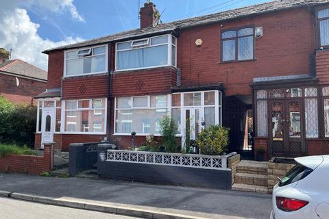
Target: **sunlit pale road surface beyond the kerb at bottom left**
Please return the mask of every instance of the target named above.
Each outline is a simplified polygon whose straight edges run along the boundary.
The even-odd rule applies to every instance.
[[[0,198],[0,219],[133,219],[132,217]]]

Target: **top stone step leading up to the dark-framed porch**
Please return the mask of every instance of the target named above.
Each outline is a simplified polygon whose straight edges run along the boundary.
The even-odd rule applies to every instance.
[[[268,162],[241,160],[241,162],[236,166],[236,172],[256,175],[267,175],[268,168]]]

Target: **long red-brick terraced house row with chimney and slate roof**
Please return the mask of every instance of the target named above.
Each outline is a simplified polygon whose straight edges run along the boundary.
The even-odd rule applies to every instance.
[[[36,148],[104,138],[125,149],[175,119],[184,146],[230,128],[229,151],[267,158],[329,153],[329,1],[282,0],[171,23],[156,5],[141,28],[44,51]],[[186,123],[188,120],[188,123]]]

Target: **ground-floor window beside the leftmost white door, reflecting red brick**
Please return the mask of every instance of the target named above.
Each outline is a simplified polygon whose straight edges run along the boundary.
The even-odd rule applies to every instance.
[[[64,132],[104,133],[106,131],[106,99],[65,101]]]

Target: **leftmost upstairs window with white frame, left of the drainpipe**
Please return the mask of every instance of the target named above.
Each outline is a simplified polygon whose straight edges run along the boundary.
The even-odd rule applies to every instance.
[[[105,45],[65,51],[64,76],[106,73],[107,54]]]

